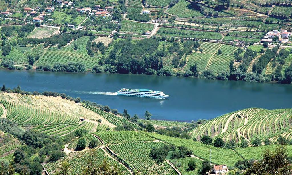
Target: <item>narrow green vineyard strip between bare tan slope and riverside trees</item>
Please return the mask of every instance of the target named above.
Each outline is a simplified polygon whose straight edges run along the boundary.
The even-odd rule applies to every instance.
[[[134,128],[138,128],[137,125],[129,122],[127,119],[124,119],[122,117],[117,117],[115,115],[113,115],[112,113],[106,113],[105,111],[102,111],[98,108],[95,108],[93,106],[85,106],[86,108],[92,110],[93,112],[103,116],[108,122],[118,126],[123,126],[124,124],[129,124],[129,125],[132,125]]]

